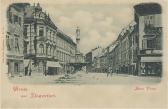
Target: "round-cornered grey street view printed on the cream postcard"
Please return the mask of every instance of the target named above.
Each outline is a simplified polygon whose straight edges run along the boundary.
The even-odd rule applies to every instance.
[[[11,83],[161,82],[159,3],[12,3],[6,21],[6,76]]]

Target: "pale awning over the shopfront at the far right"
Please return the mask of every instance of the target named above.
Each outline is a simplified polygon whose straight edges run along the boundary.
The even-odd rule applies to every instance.
[[[161,57],[141,57],[141,62],[162,62]]]

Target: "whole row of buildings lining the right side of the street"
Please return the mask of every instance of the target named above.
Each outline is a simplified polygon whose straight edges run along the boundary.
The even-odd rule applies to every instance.
[[[102,55],[89,61],[95,50],[86,54],[86,61],[92,65],[87,66],[88,71],[162,75],[161,6],[145,3],[134,9],[134,21],[122,29],[115,42],[100,50]]]

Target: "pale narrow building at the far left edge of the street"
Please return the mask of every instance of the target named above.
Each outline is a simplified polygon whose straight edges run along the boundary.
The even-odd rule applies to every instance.
[[[11,4],[7,10],[7,66],[11,76],[24,73],[23,64],[23,10]]]

